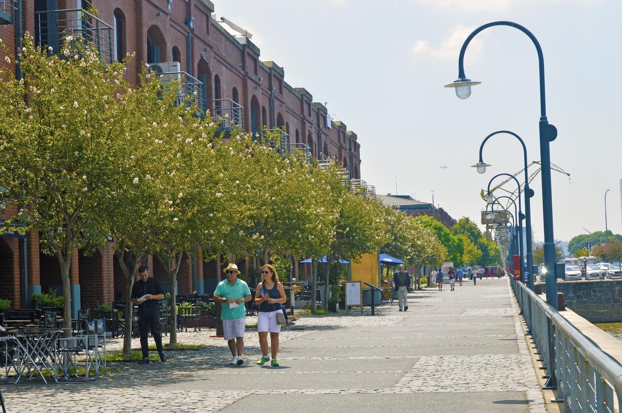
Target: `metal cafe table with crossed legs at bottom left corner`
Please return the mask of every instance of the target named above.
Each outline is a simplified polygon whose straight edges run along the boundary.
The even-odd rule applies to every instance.
[[[44,371],[47,371],[54,381],[58,382],[54,345],[62,331],[62,329],[55,328],[32,327],[2,332],[1,335],[4,337],[14,337],[19,343],[18,347],[22,350],[17,352],[19,360],[17,360],[16,383],[22,376],[31,379],[37,372],[47,384]]]

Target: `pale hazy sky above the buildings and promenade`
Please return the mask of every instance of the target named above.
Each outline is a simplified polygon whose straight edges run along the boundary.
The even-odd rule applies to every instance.
[[[605,230],[622,233],[618,0],[214,0],[253,34],[261,60],[285,69],[285,81],[328,102],[333,119],[358,135],[361,178],[379,194],[434,201],[453,218],[479,222],[481,189],[497,173],[522,169],[509,136],[486,143],[484,175],[471,165],[480,143],[511,130],[540,160],[536,50],[511,27],[478,34],[465,55],[466,76],[481,81],[471,97],[443,88],[458,75],[458,53],[476,27],[510,20],[542,45],[547,116],[559,131],[551,161],[558,240]],[[613,81],[613,87],[610,82]],[[448,168],[440,168],[447,165]],[[530,169],[531,171],[531,169]],[[499,179],[499,178],[498,178]],[[522,175],[521,179],[523,180]],[[497,181],[495,181],[497,182]],[[509,188],[509,186],[508,186]],[[531,183],[534,240],[542,241],[541,176]]]

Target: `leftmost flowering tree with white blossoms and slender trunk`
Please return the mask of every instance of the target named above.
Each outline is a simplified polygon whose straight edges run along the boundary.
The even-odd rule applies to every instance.
[[[0,70],[0,181],[3,196],[24,206],[7,225],[19,220],[39,232],[42,252],[60,264],[69,334],[73,250],[93,251],[109,235],[114,142],[128,116],[117,98],[128,85],[120,63],[101,65],[97,50],[79,40],[68,39],[61,53],[35,48],[26,34],[19,53],[24,79]]]

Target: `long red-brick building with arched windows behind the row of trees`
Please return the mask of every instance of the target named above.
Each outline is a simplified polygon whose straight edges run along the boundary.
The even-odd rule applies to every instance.
[[[0,1],[0,37],[11,55],[21,47],[24,32],[53,52],[72,34],[95,43],[104,61],[136,53],[128,64],[130,81],[136,81],[147,63],[151,70],[163,73],[163,82],[182,78],[180,94],[197,91],[198,103],[213,117],[222,118],[225,133],[231,120],[254,134],[282,130],[277,133],[288,150],[336,159],[351,178],[360,178],[360,144],[355,132],[340,120],[330,119],[326,107],[313,101],[305,88],[290,86],[284,68],[262,61],[250,39],[215,20],[210,0],[16,0],[15,9],[6,4],[11,2]],[[0,65],[11,64],[2,54]],[[14,68],[16,76],[21,76],[19,66]],[[16,212],[8,206],[0,219]],[[177,276],[177,293],[211,293],[220,280],[220,261],[186,258]],[[239,265],[246,273],[254,263],[244,260]],[[154,277],[170,286],[157,260],[150,257],[149,266]],[[294,271],[296,275],[297,266]],[[88,257],[75,251],[71,283],[75,312],[123,300],[126,280],[114,258],[114,243],[108,242]],[[61,284],[58,262],[40,252],[38,234],[0,238],[0,297],[11,299],[12,307],[29,306],[32,292],[57,289],[60,293]]]

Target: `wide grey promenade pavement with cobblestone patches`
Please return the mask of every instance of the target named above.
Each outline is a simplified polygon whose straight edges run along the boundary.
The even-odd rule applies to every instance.
[[[2,384],[7,411],[207,412],[429,411],[545,412],[506,279],[409,296],[409,310],[377,317],[303,317],[281,333],[280,367],[256,366],[256,332],[244,365],[213,330],[183,332],[167,363],[114,363],[90,383]],[[254,320],[247,320],[254,322]],[[109,349],[122,346],[111,340]],[[134,340],[132,347],[139,347]]]

